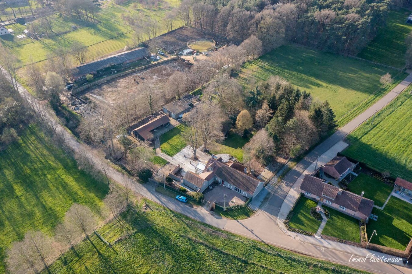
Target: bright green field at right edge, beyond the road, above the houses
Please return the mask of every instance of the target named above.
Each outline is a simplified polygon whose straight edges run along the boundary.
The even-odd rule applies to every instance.
[[[352,132],[342,153],[379,172],[412,180],[412,87]]]

